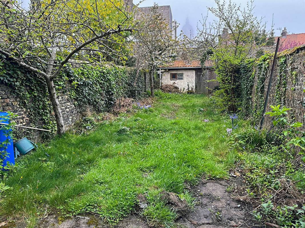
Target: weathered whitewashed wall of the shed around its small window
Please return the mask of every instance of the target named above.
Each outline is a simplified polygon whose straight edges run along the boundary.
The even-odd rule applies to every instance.
[[[171,73],[183,73],[183,80],[178,79],[170,79]],[[170,71],[164,71],[162,74],[161,82],[163,85],[166,84],[173,84],[178,86],[181,91],[184,89],[184,92],[186,92],[189,89],[195,89],[195,70],[170,70]]]

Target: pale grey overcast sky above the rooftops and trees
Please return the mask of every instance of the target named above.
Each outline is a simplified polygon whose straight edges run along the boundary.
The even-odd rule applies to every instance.
[[[134,0],[134,4],[139,1]],[[213,0],[145,0],[139,6],[152,6],[156,2],[158,5],[170,5],[173,19],[180,23],[179,30],[185,24],[188,17],[190,24],[196,30],[197,22],[206,16],[207,7],[215,6]],[[246,0],[232,0],[245,5]],[[279,28],[287,28],[289,34],[305,33],[305,0],[254,0],[254,14],[258,18],[264,17],[269,27],[274,21],[274,35],[279,36]],[[210,15],[212,16],[212,15]]]

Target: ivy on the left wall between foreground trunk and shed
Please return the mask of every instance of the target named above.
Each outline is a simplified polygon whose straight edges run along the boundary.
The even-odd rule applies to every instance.
[[[135,74],[133,68],[117,66],[74,68],[67,73],[72,84],[69,94],[79,107],[90,105],[98,112],[107,111],[118,98],[138,98],[144,92],[145,85],[141,77],[136,86],[133,86]]]

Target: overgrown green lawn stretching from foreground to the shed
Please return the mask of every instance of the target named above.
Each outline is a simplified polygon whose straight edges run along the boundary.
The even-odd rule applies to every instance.
[[[66,133],[19,158],[3,180],[10,188],[0,193],[0,220],[23,217],[34,224],[47,209],[63,216],[94,212],[116,223],[133,211],[139,193],[183,196],[185,181],[225,178],[235,155],[227,155],[229,125],[210,99],[157,95],[151,110],[105,121],[88,135]],[[171,226],[175,212],[158,197],[149,200],[143,216]]]

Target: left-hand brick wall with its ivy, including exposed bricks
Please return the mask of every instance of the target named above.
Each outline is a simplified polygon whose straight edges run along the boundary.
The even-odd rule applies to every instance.
[[[146,90],[145,72],[140,71],[134,87],[135,75],[134,68],[115,65],[64,69],[55,84],[65,125],[69,127],[88,108],[105,112],[119,97],[139,98]],[[18,115],[18,125],[52,131],[16,127],[17,139],[27,136],[38,141],[55,134],[56,123],[44,78],[5,59],[0,62],[0,104],[2,111]]]

